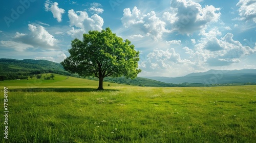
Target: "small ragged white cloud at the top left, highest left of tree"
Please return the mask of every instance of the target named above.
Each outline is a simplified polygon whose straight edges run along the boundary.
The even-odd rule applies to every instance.
[[[61,22],[62,14],[65,13],[64,9],[58,7],[58,3],[51,3],[49,0],[45,3],[45,10],[51,11],[53,17],[56,18],[58,22]]]

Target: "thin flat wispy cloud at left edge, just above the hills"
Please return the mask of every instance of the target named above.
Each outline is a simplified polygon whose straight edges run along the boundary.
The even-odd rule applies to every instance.
[[[33,48],[34,46],[25,44],[22,42],[14,42],[14,41],[0,41],[1,46],[3,47],[9,47],[11,49],[14,49],[15,51],[18,52],[23,52],[29,48]]]

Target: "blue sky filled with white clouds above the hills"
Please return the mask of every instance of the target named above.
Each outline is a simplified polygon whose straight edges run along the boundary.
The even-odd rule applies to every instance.
[[[110,28],[140,51],[139,77],[256,68],[255,0],[0,2],[0,58],[61,62],[71,41]]]

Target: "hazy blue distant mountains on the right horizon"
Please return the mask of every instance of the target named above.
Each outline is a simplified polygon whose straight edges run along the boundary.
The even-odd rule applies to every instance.
[[[191,73],[184,77],[145,77],[165,83],[202,83],[202,84],[223,84],[223,83],[256,83],[256,69],[241,70],[208,70],[203,73]]]

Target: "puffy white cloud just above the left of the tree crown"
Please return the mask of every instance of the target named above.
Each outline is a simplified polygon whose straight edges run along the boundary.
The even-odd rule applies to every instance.
[[[84,30],[102,30],[104,20],[97,14],[89,17],[86,11],[76,11],[73,9],[69,10],[70,26],[82,28]],[[79,13],[79,15],[77,15]]]

